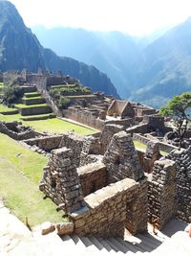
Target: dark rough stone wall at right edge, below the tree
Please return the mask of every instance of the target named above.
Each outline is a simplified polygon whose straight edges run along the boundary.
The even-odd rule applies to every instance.
[[[168,158],[176,162],[178,212],[180,220],[191,220],[191,150],[171,151]]]

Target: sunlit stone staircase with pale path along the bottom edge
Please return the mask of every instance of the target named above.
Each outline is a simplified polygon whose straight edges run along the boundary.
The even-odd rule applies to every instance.
[[[172,220],[162,232],[148,233],[135,237],[121,238],[77,237],[56,232],[41,235],[41,225],[32,232],[11,215],[0,198],[0,255],[1,256],[190,256],[191,239],[180,231],[185,227],[182,221]],[[178,232],[179,231],[179,232]],[[172,236],[173,235],[173,236]],[[171,237],[172,236],[172,237]]]

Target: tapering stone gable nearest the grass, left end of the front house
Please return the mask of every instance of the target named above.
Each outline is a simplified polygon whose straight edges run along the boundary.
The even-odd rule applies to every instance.
[[[66,213],[85,206],[72,150],[61,148],[52,151],[39,189]]]

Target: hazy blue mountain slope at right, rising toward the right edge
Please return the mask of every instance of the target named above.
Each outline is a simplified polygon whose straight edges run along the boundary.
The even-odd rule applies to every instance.
[[[143,57],[133,99],[160,106],[191,91],[191,18],[148,45]]]

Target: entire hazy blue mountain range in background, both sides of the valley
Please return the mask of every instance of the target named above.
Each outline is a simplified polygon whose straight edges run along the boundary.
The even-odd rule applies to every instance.
[[[160,107],[174,95],[191,91],[191,19],[167,29],[143,38],[39,26],[32,31],[56,53],[107,73],[121,98]]]

